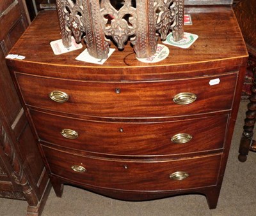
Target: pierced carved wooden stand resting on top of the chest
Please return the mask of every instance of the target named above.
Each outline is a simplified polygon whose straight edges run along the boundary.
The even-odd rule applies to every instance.
[[[119,49],[131,40],[138,58],[156,53],[157,40],[172,31],[183,38],[184,0],[57,0],[61,37],[65,47],[71,36],[84,39],[97,59],[108,57],[111,37]]]

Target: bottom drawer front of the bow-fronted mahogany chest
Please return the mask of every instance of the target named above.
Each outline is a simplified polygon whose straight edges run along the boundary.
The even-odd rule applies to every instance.
[[[43,149],[54,175],[78,184],[132,191],[171,191],[216,185],[221,161],[221,155],[177,161],[115,161]]]

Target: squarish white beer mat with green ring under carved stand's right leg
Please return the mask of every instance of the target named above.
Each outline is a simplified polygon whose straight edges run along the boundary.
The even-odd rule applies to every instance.
[[[168,34],[166,40],[163,41],[163,43],[166,45],[172,45],[174,47],[189,48],[196,41],[197,38],[198,38],[198,35],[196,34],[184,32],[184,36],[182,40],[174,41],[173,35],[171,32],[170,34]]]

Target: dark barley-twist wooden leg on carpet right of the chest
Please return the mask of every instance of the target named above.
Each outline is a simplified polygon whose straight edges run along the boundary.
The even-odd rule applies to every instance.
[[[256,83],[253,82],[252,95],[250,96],[250,103],[248,104],[248,111],[246,112],[246,119],[244,119],[244,131],[240,141],[238,159],[241,162],[246,161],[247,155],[252,145],[253,128],[256,117]]]

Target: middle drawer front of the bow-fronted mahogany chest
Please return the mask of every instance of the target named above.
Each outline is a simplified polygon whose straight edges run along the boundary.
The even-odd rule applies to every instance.
[[[40,140],[116,155],[171,155],[223,148],[228,115],[160,123],[93,122],[31,110]]]

